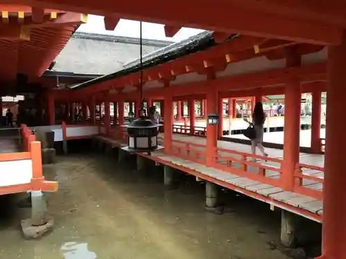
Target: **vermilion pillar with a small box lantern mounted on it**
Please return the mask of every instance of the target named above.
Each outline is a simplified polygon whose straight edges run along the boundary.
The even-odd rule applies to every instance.
[[[215,79],[215,73],[208,70],[207,79]],[[210,87],[207,92],[207,113],[217,113],[217,91]],[[207,148],[206,148],[206,164],[212,166],[215,155],[217,153],[217,125],[208,125],[207,122]]]

